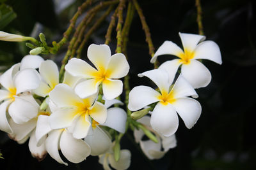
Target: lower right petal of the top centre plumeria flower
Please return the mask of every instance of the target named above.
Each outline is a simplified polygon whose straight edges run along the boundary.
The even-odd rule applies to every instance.
[[[115,99],[123,92],[123,82],[121,80],[104,80],[102,82],[102,90],[106,99]]]

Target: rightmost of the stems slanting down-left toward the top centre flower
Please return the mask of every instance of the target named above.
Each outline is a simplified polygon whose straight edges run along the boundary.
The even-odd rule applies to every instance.
[[[116,3],[118,1],[115,1]],[[92,35],[92,33],[99,27],[99,25],[105,20],[106,17],[108,17],[109,13],[113,10],[114,6],[110,6],[108,8],[108,10],[106,11],[106,13],[104,13],[104,15],[102,15],[102,17],[99,18],[99,20],[97,20],[97,22],[95,22],[95,24],[91,27],[91,29],[84,35],[83,41],[80,44],[79,48],[77,48],[77,58],[81,57],[81,52],[83,50],[83,47],[85,45],[85,43],[88,41],[88,39],[90,38],[90,36]]]

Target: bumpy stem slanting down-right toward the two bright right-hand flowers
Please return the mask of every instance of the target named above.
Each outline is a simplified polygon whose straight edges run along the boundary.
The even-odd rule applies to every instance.
[[[138,4],[137,0],[132,0],[133,1],[133,4],[138,12],[138,15],[140,16],[140,21],[141,21],[141,25],[142,25],[142,29],[145,31],[145,36],[146,36],[146,41],[148,43],[148,49],[149,49],[149,54],[151,55],[151,57],[154,56],[155,52],[155,48],[154,48],[154,45],[152,43],[152,39],[151,39],[151,34],[150,34],[150,31],[149,31],[149,27],[147,25],[147,22],[145,20],[145,17],[143,15],[143,12],[140,8],[140,5]],[[157,68],[157,62],[154,63],[154,67]]]

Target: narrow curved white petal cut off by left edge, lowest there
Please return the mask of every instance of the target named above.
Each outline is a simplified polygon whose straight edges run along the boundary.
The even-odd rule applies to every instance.
[[[12,128],[10,127],[6,117],[6,110],[10,103],[12,103],[12,101],[8,100],[0,104],[0,130],[7,133],[12,133]]]

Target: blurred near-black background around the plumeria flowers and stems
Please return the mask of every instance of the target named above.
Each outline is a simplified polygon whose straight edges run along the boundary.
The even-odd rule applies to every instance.
[[[1,1],[0,1],[1,3]],[[54,3],[44,1],[6,1],[17,17],[1,31],[16,32],[29,36],[36,22],[42,24],[49,41],[58,41],[67,29],[68,20],[82,1],[75,1],[61,13],[54,11]],[[194,1],[139,1],[146,17],[154,46],[157,48],[170,40],[181,46],[178,32],[198,33]],[[129,169],[256,169],[255,152],[255,73],[256,73],[256,18],[255,1],[250,0],[208,0],[202,1],[204,33],[207,39],[215,41],[221,50],[223,64],[204,60],[212,74],[208,87],[196,90],[202,104],[202,115],[192,129],[186,129],[180,119],[176,133],[177,147],[170,150],[163,159],[150,161],[132,141],[132,132],[122,139],[122,148],[131,150]],[[93,34],[90,43],[104,43],[108,21]],[[115,50],[115,36],[111,41]],[[67,46],[55,56],[44,55],[60,64]],[[0,68],[2,70],[20,62],[29,53],[24,43],[0,41]],[[136,75],[152,69],[149,63],[147,43],[141,30],[137,13],[132,22],[128,43],[128,57],[131,65],[131,87],[149,85],[147,79]],[[171,59],[159,57],[160,62]],[[8,139],[0,132],[0,169],[102,169],[97,157],[88,157],[80,164],[58,164],[49,155],[42,162],[31,157],[28,142],[23,145]]]

